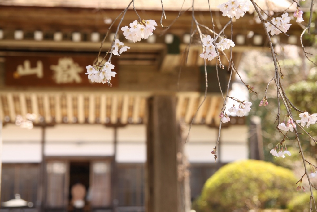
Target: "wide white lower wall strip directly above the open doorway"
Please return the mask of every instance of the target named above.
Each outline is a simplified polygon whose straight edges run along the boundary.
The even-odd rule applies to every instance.
[[[47,143],[44,154],[46,156],[111,156],[113,144]]]

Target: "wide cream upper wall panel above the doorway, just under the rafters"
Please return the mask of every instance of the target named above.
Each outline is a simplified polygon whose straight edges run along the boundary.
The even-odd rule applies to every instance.
[[[112,127],[97,124],[60,124],[46,128],[45,141],[113,142],[113,136]]]

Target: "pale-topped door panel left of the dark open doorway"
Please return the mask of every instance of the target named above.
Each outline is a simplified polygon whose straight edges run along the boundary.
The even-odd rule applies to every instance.
[[[46,208],[65,209],[68,204],[68,163],[48,161],[46,173]]]

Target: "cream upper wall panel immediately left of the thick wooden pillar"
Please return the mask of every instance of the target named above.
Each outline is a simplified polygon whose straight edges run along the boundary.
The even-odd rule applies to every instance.
[[[146,142],[146,125],[127,125],[117,128],[118,142]]]

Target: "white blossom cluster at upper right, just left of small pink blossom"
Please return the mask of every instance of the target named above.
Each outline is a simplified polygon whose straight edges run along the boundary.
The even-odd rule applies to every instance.
[[[290,17],[288,17],[288,13],[284,13],[282,14],[281,17],[276,17],[276,18],[272,18],[272,23],[265,23],[266,29],[268,30],[268,32],[271,32],[270,34],[273,35],[278,35],[282,32],[287,32],[289,27],[292,24],[289,24],[290,21]]]

